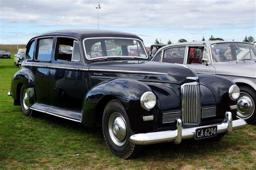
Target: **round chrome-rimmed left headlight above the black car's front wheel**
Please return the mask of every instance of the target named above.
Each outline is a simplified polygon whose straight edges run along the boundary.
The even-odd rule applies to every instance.
[[[157,98],[152,92],[145,92],[140,98],[140,105],[146,110],[151,110],[157,104]]]

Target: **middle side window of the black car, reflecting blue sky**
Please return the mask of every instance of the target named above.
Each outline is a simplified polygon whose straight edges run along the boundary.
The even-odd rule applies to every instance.
[[[50,61],[52,56],[53,38],[39,39],[37,60]]]

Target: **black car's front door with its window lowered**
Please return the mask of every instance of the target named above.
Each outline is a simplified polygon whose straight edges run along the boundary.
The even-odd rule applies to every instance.
[[[82,118],[82,102],[85,96],[82,69],[83,60],[78,41],[70,37],[57,37],[50,68],[48,112],[75,120]]]

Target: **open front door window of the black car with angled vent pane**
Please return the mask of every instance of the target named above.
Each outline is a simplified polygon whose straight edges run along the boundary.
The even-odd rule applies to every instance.
[[[63,62],[79,62],[80,51],[78,42],[72,38],[57,38],[55,60]]]

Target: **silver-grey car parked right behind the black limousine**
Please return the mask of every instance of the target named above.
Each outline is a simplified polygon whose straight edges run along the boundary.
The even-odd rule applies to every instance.
[[[202,41],[171,44],[158,50],[152,61],[184,64],[197,73],[218,74],[240,88],[237,117],[256,120],[256,50],[250,43]]]

